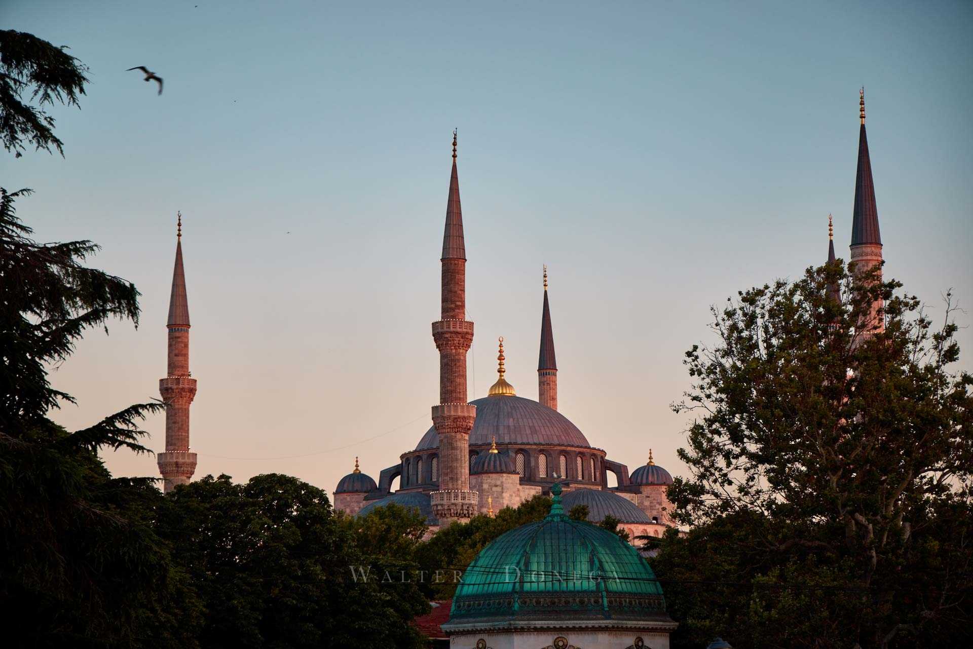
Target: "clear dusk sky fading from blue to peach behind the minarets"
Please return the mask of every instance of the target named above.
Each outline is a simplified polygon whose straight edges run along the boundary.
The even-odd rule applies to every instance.
[[[885,276],[973,306],[973,5],[5,0],[7,28],[90,67],[64,157],[3,159],[42,241],[142,293],[54,371],[68,429],[158,398],[183,214],[196,477],[329,492],[414,448],[438,401],[429,323],[458,128],[470,395],[536,399],[541,266],[559,410],[630,470],[672,474],[708,309],[847,258],[858,89]],[[407,6],[408,5],[408,6]],[[126,68],[146,65],[154,83]],[[957,314],[971,369],[973,311]],[[164,418],[145,424],[164,448]],[[152,455],[107,451],[120,476]]]

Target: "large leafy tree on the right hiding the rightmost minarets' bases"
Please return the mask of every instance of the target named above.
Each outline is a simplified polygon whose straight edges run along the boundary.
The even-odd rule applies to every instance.
[[[679,450],[690,475],[668,490],[674,520],[693,529],[667,534],[653,559],[664,581],[711,584],[667,589],[685,616],[674,646],[698,646],[705,620],[744,645],[959,637],[973,378],[950,369],[949,294],[933,329],[900,288],[838,262],[713,308],[717,343],[686,353],[695,382],[674,405],[698,414]],[[879,298],[883,332],[862,326]]]

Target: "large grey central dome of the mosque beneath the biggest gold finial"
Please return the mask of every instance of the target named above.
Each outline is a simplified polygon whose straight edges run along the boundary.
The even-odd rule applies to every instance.
[[[496,436],[499,445],[551,445],[590,447],[578,427],[558,411],[536,401],[510,395],[484,397],[471,401],[477,418],[470,432],[470,446],[488,446]],[[416,451],[439,448],[435,427],[422,436]]]

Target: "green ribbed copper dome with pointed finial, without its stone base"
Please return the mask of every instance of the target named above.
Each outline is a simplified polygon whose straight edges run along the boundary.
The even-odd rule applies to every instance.
[[[552,487],[546,519],[490,543],[463,573],[452,599],[454,627],[544,620],[671,623],[649,564],[616,534],[572,521]]]

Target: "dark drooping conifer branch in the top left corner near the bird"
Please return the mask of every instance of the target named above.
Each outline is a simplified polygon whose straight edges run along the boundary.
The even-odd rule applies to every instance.
[[[24,142],[49,153],[54,147],[64,155],[64,143],[54,135],[54,118],[45,107],[55,101],[79,106],[88,83],[88,68],[65,50],[32,34],[0,30],[0,133],[4,147],[17,158]],[[37,105],[30,105],[35,100]]]

